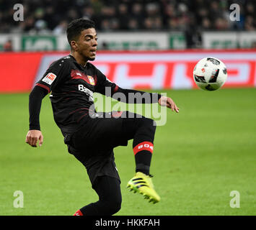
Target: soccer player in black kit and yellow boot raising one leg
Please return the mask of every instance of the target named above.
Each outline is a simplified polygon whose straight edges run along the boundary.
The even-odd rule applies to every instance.
[[[113,149],[126,146],[129,139],[133,139],[136,174],[128,182],[128,188],[138,191],[153,203],[159,202],[160,197],[149,174],[156,129],[154,121],[129,111],[97,112],[93,93],[107,95],[106,88],[109,88],[110,95],[107,96],[117,98],[116,93],[123,93],[124,102],[128,102],[128,93],[137,93],[149,98],[149,101],[142,100],[141,103],[159,103],[176,112],[179,108],[171,98],[158,93],[118,87],[88,62],[95,59],[97,50],[94,22],[87,19],[72,21],[67,37],[71,46],[70,55],[53,62],[30,93],[27,144],[32,147],[37,147],[38,141],[40,146],[43,144],[40,107],[43,98],[51,92],[53,116],[68,151],[86,167],[92,188],[99,195],[99,201],[80,208],[74,215],[112,215],[120,210],[120,178]]]

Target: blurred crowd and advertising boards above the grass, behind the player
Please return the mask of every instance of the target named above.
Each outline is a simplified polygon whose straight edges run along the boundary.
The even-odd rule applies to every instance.
[[[256,85],[252,60],[256,47],[255,1],[30,0],[19,1],[24,12],[22,21],[14,20],[15,4],[17,1],[0,1],[2,71],[3,75],[13,75],[9,78],[12,83],[1,83],[0,92],[30,91],[53,60],[69,53],[66,27],[79,17],[96,22],[99,52],[94,63],[120,86],[195,88],[191,69],[206,55],[226,63],[229,79],[225,87]],[[239,19],[235,21],[230,19],[234,11],[231,4],[239,6]],[[110,52],[111,58],[106,56]],[[155,69],[162,73],[154,75]],[[120,72],[125,74],[119,79],[116,73]],[[22,78],[22,82],[17,81],[19,86],[13,82],[17,73]],[[134,75],[136,78],[129,78]]]

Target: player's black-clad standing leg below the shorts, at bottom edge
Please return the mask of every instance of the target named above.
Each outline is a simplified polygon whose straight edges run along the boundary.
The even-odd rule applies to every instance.
[[[99,176],[93,188],[99,195],[99,201],[80,208],[74,216],[111,216],[120,210],[122,196],[118,179]]]

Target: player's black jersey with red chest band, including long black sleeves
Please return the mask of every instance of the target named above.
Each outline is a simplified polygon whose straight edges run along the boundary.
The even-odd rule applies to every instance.
[[[109,88],[106,91],[106,88]],[[50,93],[51,92],[51,93]],[[40,130],[39,114],[43,97],[50,93],[53,116],[62,133],[76,132],[95,112],[93,93],[101,93],[115,98],[116,92],[124,97],[115,98],[125,103],[156,103],[161,97],[158,93],[146,93],[118,87],[106,78],[92,63],[84,67],[72,55],[53,62],[30,93],[30,129]],[[117,93],[117,94],[118,94]],[[131,102],[129,93],[146,96],[146,99]]]

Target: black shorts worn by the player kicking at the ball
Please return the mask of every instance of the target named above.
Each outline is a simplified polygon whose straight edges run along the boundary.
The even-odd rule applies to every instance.
[[[133,139],[135,121],[142,117],[128,111],[109,116],[109,113],[95,114],[78,132],[64,139],[69,152],[87,168],[92,187],[98,176],[108,175],[120,180],[113,149],[126,146],[128,140]]]

